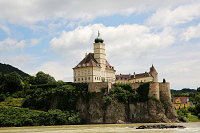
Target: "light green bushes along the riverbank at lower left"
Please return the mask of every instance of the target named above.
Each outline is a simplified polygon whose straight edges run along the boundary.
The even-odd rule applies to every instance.
[[[0,107],[0,126],[41,126],[79,124],[79,114],[61,110],[48,112],[34,111],[25,108]]]

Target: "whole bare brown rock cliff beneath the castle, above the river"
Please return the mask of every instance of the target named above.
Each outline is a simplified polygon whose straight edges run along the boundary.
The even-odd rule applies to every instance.
[[[124,122],[177,122],[177,115],[171,103],[161,104],[156,100],[122,104],[103,100],[103,94],[96,93],[89,100],[80,98],[77,110],[84,123],[124,123]]]

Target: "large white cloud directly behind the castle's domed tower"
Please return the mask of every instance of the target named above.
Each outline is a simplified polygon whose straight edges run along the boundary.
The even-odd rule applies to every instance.
[[[170,28],[152,33],[150,28],[136,24],[117,27],[94,24],[78,27],[73,31],[63,31],[59,37],[51,40],[51,48],[58,53],[80,58],[85,52],[92,52],[92,43],[99,29],[105,40],[108,56],[115,57],[116,60],[155,52],[175,41]]]

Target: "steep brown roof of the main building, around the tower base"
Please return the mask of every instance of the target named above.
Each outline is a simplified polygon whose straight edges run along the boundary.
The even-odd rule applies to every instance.
[[[83,68],[83,67],[100,67],[100,64],[94,58],[94,53],[89,53],[88,55],[86,55],[85,58],[80,63],[78,63],[78,65],[74,68]],[[107,60],[106,60],[106,69],[114,70],[114,67],[111,66]]]

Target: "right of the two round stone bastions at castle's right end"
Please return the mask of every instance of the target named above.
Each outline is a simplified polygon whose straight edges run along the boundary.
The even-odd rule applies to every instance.
[[[171,102],[171,92],[170,92],[170,83],[160,83],[160,100],[161,101],[168,101]]]

